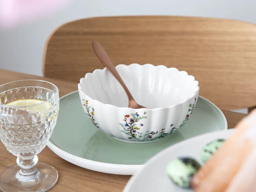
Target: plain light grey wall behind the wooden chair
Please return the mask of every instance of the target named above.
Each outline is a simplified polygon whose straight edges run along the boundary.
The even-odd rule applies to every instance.
[[[0,68],[42,76],[47,37],[71,20],[114,15],[183,15],[256,23],[255,7],[255,0],[73,0],[65,10],[37,23],[0,31]]]

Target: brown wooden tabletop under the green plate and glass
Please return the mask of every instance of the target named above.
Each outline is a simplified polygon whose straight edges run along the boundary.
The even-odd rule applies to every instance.
[[[40,79],[56,84],[60,96],[77,90],[77,84],[28,74],[0,70],[0,84],[22,79]],[[233,128],[245,115],[222,110],[228,121],[228,128]],[[39,161],[55,167],[59,173],[57,184],[50,190],[56,192],[121,192],[130,179],[128,175],[113,175],[95,172],[78,167],[53,153],[47,146],[38,155]],[[16,158],[0,143],[0,172],[16,164]]]

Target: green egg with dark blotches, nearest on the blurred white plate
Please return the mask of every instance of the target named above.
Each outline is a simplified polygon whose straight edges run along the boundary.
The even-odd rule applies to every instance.
[[[196,160],[186,157],[171,161],[166,172],[173,183],[181,188],[190,188],[190,180],[199,168]]]

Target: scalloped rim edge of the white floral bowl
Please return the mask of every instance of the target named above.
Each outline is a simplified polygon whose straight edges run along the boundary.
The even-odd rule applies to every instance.
[[[117,65],[116,67],[118,67],[118,68],[120,68],[119,66],[125,66],[125,67],[129,67],[129,66],[131,66],[131,65],[140,65],[140,64],[138,64],[138,63],[132,63],[132,64],[130,64],[130,65],[124,65],[124,64],[119,64],[119,65]],[[165,65],[157,65],[157,66],[155,66],[155,65],[152,65],[152,64],[144,64],[144,65],[140,65],[140,66],[153,66],[153,67],[165,67],[166,69],[177,69],[177,68],[167,68]],[[97,71],[106,71],[106,70],[108,70],[107,68],[103,68],[103,69],[95,69],[92,73],[86,73],[85,74],[85,76],[84,77],[82,77],[81,79],[80,79],[80,83],[78,83],[78,90],[79,90],[79,92],[81,91],[87,98],[89,98],[90,100],[93,100],[94,102],[96,102],[96,103],[98,103],[98,104],[102,104],[102,105],[106,105],[106,106],[112,106],[112,107],[115,107],[115,108],[122,108],[122,109],[131,109],[131,108],[129,108],[129,107],[117,107],[117,106],[115,106],[115,105],[112,105],[112,104],[106,104],[106,103],[102,103],[101,101],[99,101],[99,100],[95,100],[95,99],[92,99],[90,96],[88,96],[87,94],[85,94],[84,93],[84,91],[82,90],[82,86],[81,86],[81,84],[83,84],[82,83],[82,79],[86,79],[87,78],[87,76],[89,75],[89,74],[95,74]],[[187,71],[180,71],[179,69],[177,69],[179,72],[186,72],[187,73],[187,75],[188,75],[188,72]],[[188,75],[188,76],[192,76],[192,75]],[[194,76],[192,76],[192,77],[194,77]],[[180,102],[180,103],[176,103],[176,104],[173,104],[173,105],[171,105],[171,106],[168,106],[168,107],[158,107],[158,108],[153,108],[153,109],[151,109],[151,108],[146,108],[146,109],[148,109],[148,110],[150,110],[150,111],[155,111],[155,110],[160,110],[160,109],[168,109],[168,108],[172,108],[172,107],[174,107],[174,106],[178,106],[178,105],[182,105],[183,103],[185,103],[185,102],[187,102],[188,100],[190,100],[190,99],[192,99],[193,97],[195,97],[195,95],[197,95],[197,92],[199,91],[199,86],[198,86],[198,81],[196,81],[195,80],[195,77],[194,77],[194,80],[193,80],[194,82],[197,82],[197,85],[195,85],[195,87],[196,87],[196,91],[194,92],[194,94],[191,96],[191,97],[188,97],[186,100],[184,100],[184,101],[182,101],[182,102]],[[145,110],[145,108],[139,108],[139,109],[143,109],[143,110]],[[137,109],[138,110],[138,109]]]

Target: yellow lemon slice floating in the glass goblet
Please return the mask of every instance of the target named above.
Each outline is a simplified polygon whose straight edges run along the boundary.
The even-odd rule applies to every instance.
[[[32,105],[32,106],[31,106]],[[12,101],[6,106],[9,107],[22,107],[20,109],[26,110],[28,113],[38,113],[38,112],[44,112],[47,109],[50,109],[52,106],[50,102],[45,102],[42,100],[36,100],[36,99],[21,99],[21,100],[15,100]],[[28,107],[26,107],[28,106]]]

